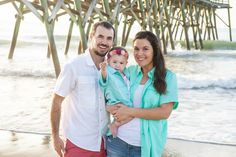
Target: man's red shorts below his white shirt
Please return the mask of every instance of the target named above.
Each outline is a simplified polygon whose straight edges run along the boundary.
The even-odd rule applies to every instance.
[[[104,141],[102,140],[100,152],[94,152],[80,148],[67,139],[64,157],[106,157]]]

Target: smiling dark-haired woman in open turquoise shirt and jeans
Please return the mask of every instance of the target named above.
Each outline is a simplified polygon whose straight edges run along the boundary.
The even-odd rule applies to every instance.
[[[133,107],[109,110],[117,121],[133,120],[119,127],[117,138],[107,137],[107,156],[161,157],[167,119],[178,106],[176,75],[166,69],[160,39],[152,32],[138,32],[133,47],[138,64],[129,67]]]

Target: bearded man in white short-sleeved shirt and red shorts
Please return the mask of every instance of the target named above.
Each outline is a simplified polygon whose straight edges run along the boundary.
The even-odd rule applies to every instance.
[[[106,132],[108,114],[98,85],[99,64],[113,46],[114,36],[115,30],[110,23],[95,23],[90,34],[90,48],[66,64],[58,77],[51,127],[54,149],[60,157],[105,156],[102,136]],[[62,107],[65,145],[59,136]]]

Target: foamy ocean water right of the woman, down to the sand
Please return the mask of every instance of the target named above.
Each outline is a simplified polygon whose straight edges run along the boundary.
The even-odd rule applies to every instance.
[[[179,108],[169,120],[169,137],[236,143],[236,51],[173,52]]]

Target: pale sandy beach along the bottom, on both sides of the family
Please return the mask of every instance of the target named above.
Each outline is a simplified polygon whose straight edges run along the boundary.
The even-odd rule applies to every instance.
[[[232,157],[235,146],[168,139],[164,157]],[[0,131],[0,157],[57,157],[50,136]]]

